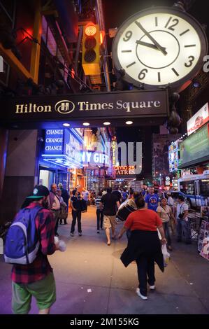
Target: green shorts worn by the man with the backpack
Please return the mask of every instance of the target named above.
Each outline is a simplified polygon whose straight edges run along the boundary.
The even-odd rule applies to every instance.
[[[38,309],[48,309],[56,301],[56,286],[53,273],[43,280],[20,284],[13,281],[13,314],[28,314],[31,309],[31,298],[35,297]]]

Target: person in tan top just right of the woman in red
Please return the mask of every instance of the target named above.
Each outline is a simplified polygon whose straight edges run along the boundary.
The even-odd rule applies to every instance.
[[[175,218],[173,216],[171,207],[169,207],[167,204],[167,200],[165,197],[161,200],[161,205],[157,207],[157,214],[161,218],[161,221],[163,223],[166,240],[168,241],[167,248],[168,248],[168,250],[172,251],[171,234],[170,234],[169,228],[171,225],[171,221],[172,220],[175,221]]]

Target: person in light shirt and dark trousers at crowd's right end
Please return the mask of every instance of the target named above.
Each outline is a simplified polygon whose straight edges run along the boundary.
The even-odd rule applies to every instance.
[[[191,229],[188,218],[188,206],[185,203],[185,198],[182,195],[178,196],[178,205],[176,209],[176,231],[177,241],[182,241],[182,234],[185,236],[186,244],[191,244]]]

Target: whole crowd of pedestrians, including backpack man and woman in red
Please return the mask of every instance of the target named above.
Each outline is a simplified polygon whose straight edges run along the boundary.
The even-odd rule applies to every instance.
[[[120,239],[126,232],[128,244],[121,260],[125,267],[136,262],[136,294],[143,300],[147,299],[147,284],[150,290],[155,290],[154,262],[164,272],[166,264],[161,246],[167,246],[169,251],[173,250],[172,237],[175,230],[177,241],[182,241],[184,237],[186,244],[191,244],[188,206],[181,196],[175,207],[171,193],[158,193],[153,187],[134,191],[131,188],[120,190],[115,186],[113,190],[106,188],[99,191],[98,195],[84,188],[82,191],[74,188],[70,196],[62,183],[58,184],[58,188],[57,184],[52,183],[50,191],[45,186],[35,186],[8,230],[10,241],[6,241],[5,260],[13,263],[14,314],[29,313],[32,296],[36,298],[39,314],[49,314],[50,307],[56,300],[56,288],[47,255],[52,255],[57,250],[64,251],[57,231],[59,225],[67,224],[69,207],[72,214],[70,236],[74,237],[76,222],[78,235],[82,236],[82,213],[87,211],[89,205],[96,207],[96,232],[99,234],[104,230],[108,246],[112,240]],[[24,221],[29,218],[31,223],[34,221],[36,246],[38,244],[33,249],[33,239],[29,232],[26,239],[31,239],[31,249],[25,248],[23,256],[17,255],[11,244],[15,225],[16,230],[21,230],[26,225],[20,223],[22,218]],[[120,233],[116,234],[119,220],[124,225]],[[31,230],[29,225],[27,230]],[[34,260],[30,262],[31,255]]]

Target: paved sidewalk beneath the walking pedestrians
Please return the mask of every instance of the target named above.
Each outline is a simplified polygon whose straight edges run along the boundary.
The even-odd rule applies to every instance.
[[[71,214],[68,223],[71,224]],[[122,223],[117,225],[117,232]],[[64,253],[50,256],[55,273],[57,302],[51,314],[208,314],[209,262],[192,245],[173,243],[171,261],[165,272],[156,266],[156,291],[148,300],[136,295],[136,264],[125,268],[120,255],[127,245],[106,244],[105,232],[96,233],[96,209],[82,214],[82,237],[70,237],[70,225],[59,225],[60,239],[67,244]],[[11,314],[10,265],[0,259],[0,314]],[[32,302],[30,314],[37,314]]]

